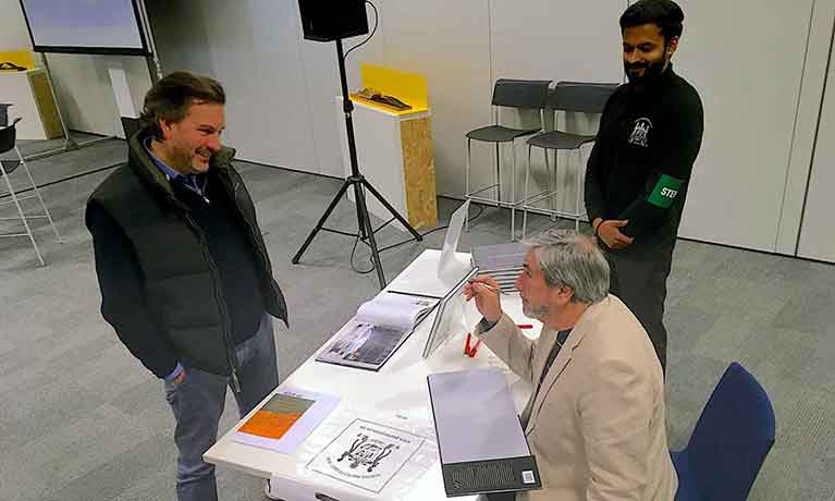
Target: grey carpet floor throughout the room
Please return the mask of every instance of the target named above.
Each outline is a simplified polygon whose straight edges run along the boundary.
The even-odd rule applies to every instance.
[[[44,145],[26,145],[32,151]],[[109,142],[30,162],[39,184],[124,158]],[[290,262],[339,188],[339,180],[243,164],[258,204],[274,274],[286,291],[291,329],[277,329],[282,378],[377,292],[373,273],[348,265],[351,239],[321,234],[299,266]],[[48,267],[22,239],[0,241],[0,499],[165,500],[174,498],[173,418],[160,382],[101,319],[83,208],[109,171],[44,190],[66,242],[36,233]],[[23,182],[19,170],[12,175]],[[29,200],[32,201],[32,200]],[[457,206],[439,201],[442,220]],[[4,208],[3,210],[9,210]],[[474,213],[476,209],[474,209]],[[5,216],[5,215],[3,215]],[[520,219],[519,219],[520,221]],[[341,204],[334,228],[354,224]],[[13,229],[3,223],[0,231]],[[507,211],[486,209],[462,246],[507,237]],[[532,217],[533,231],[553,223]],[[562,223],[570,227],[569,223]],[[392,228],[385,246],[404,239]],[[383,255],[391,279],[443,232]],[[356,266],[367,268],[360,245]],[[732,361],[762,382],[777,414],[777,443],[752,500],[835,500],[835,271],[831,266],[679,242],[670,280],[667,377],[671,447],[686,443],[713,386]],[[232,398],[221,428],[235,423]],[[261,482],[219,468],[223,500],[261,500]]]

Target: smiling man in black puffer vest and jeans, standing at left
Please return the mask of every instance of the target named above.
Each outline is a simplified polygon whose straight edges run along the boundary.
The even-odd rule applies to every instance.
[[[222,86],[176,72],[145,97],[127,164],[87,203],[101,313],[162,379],[176,418],[180,501],[218,499],[202,454],[232,388],[241,416],[279,384],[272,321],[287,308],[255,206],[220,143]]]

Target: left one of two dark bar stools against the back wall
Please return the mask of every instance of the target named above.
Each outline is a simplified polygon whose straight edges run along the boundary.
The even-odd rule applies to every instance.
[[[493,87],[493,125],[474,129],[466,134],[466,197],[470,200],[494,204],[498,207],[511,208],[511,240],[516,237],[516,207],[524,200],[516,200],[516,148],[514,140],[518,137],[529,136],[542,131],[544,126],[544,108],[548,100],[548,89],[551,81],[508,80],[500,78]],[[513,129],[501,125],[500,109],[516,108],[539,111],[540,124],[538,127]],[[470,154],[472,142],[492,143],[495,145],[495,183],[470,191]],[[509,143],[513,151],[513,170],[511,172],[511,199],[502,200],[502,167],[499,145]],[[495,188],[495,198],[479,196],[488,190]]]

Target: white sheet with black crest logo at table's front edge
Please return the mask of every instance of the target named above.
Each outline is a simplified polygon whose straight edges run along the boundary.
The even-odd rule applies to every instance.
[[[355,419],[307,464],[307,468],[377,493],[426,440],[397,428]]]

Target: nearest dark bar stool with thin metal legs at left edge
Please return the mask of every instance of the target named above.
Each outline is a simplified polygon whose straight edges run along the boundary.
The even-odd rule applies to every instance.
[[[26,228],[26,233],[8,233],[8,234],[0,234],[0,237],[15,237],[15,236],[28,236],[29,242],[32,242],[32,246],[35,248],[35,254],[38,256],[38,261],[40,261],[40,266],[45,265],[44,257],[40,255],[40,249],[38,249],[38,244],[35,242],[35,236],[32,234],[32,227],[29,225],[30,219],[47,219],[49,220],[49,224],[52,227],[52,231],[56,232],[56,237],[58,237],[59,242],[62,242],[61,234],[58,233],[58,229],[56,228],[56,223],[52,221],[52,216],[49,213],[49,209],[47,209],[47,205],[44,203],[44,197],[40,196],[40,190],[38,190],[38,186],[35,184],[35,180],[32,178],[32,173],[29,172],[28,166],[26,166],[26,160],[24,160],[23,155],[21,155],[21,150],[17,149],[17,145],[15,143],[16,136],[17,136],[17,130],[15,126],[17,125],[17,122],[20,122],[21,119],[15,119],[11,125],[7,127],[0,129],[0,155],[8,154],[10,151],[14,151],[14,154],[17,156],[17,159],[12,160],[0,160],[0,176],[3,178],[5,181],[5,186],[9,188],[9,196],[11,197],[11,200],[0,203],[0,206],[14,204],[14,206],[17,208],[19,217],[15,218],[0,218],[0,221],[22,221],[23,225]],[[15,169],[17,169],[19,166],[23,166],[24,172],[26,172],[26,176],[29,179],[29,183],[32,183],[32,190],[35,192],[34,195],[27,195],[24,197],[17,196],[17,194],[14,192],[14,187],[12,186],[12,182],[9,179],[9,174],[11,174]],[[29,216],[26,215],[23,211],[23,206],[21,206],[22,200],[26,200],[28,198],[36,198],[40,201],[40,207],[44,209],[44,215],[37,215],[37,216]]]

